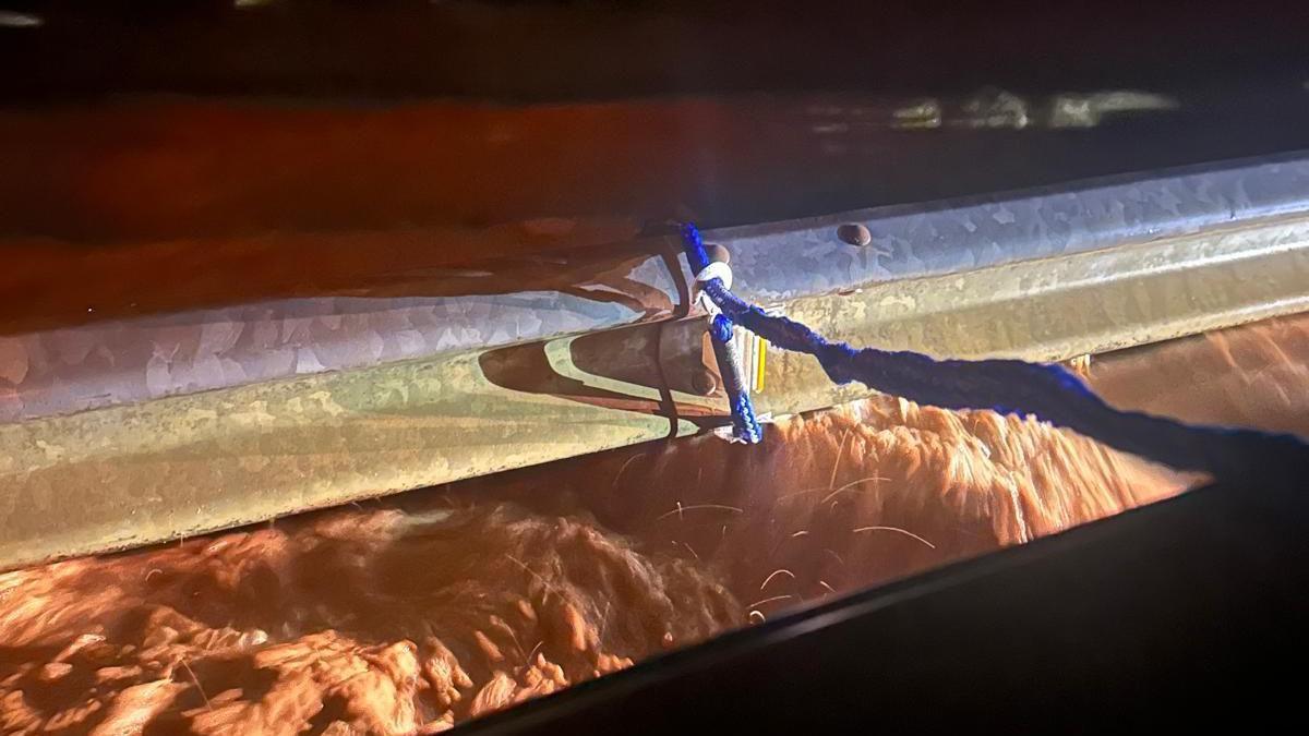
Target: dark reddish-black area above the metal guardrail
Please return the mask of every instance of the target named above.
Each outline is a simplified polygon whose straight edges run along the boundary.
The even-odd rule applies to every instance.
[[[0,333],[1306,149],[1301,5],[0,0]]]

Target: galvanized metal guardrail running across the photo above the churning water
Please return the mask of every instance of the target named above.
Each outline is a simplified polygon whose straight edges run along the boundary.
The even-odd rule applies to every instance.
[[[834,338],[1063,360],[1309,309],[1309,158],[708,238],[730,251],[742,297]],[[668,245],[420,274],[404,297],[4,338],[0,566],[713,424],[703,327],[668,321],[689,304]],[[751,355],[762,413],[865,393],[805,356]]]

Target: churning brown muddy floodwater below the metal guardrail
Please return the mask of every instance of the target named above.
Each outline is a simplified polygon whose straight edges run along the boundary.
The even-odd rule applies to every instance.
[[[1106,356],[1092,381],[1123,406],[1302,427],[1306,325]],[[1165,388],[1185,380],[1189,401]],[[758,448],[647,444],[34,567],[0,575],[0,731],[440,731],[1192,482],[881,397]]]

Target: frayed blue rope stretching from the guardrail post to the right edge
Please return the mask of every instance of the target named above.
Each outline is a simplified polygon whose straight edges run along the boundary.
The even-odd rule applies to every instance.
[[[687,261],[699,272],[708,265],[695,225],[682,228]],[[1255,430],[1191,426],[1136,411],[1119,411],[1060,365],[1022,360],[935,360],[908,351],[856,350],[829,342],[809,327],[766,314],[728,291],[719,279],[702,288],[723,316],[774,346],[813,355],[838,384],[859,381],[882,393],[942,409],[994,410],[1034,415],[1109,447],[1178,470],[1199,470],[1219,481],[1247,482],[1251,474],[1309,470],[1309,445],[1293,435]],[[733,402],[738,422],[754,419],[749,397]]]

